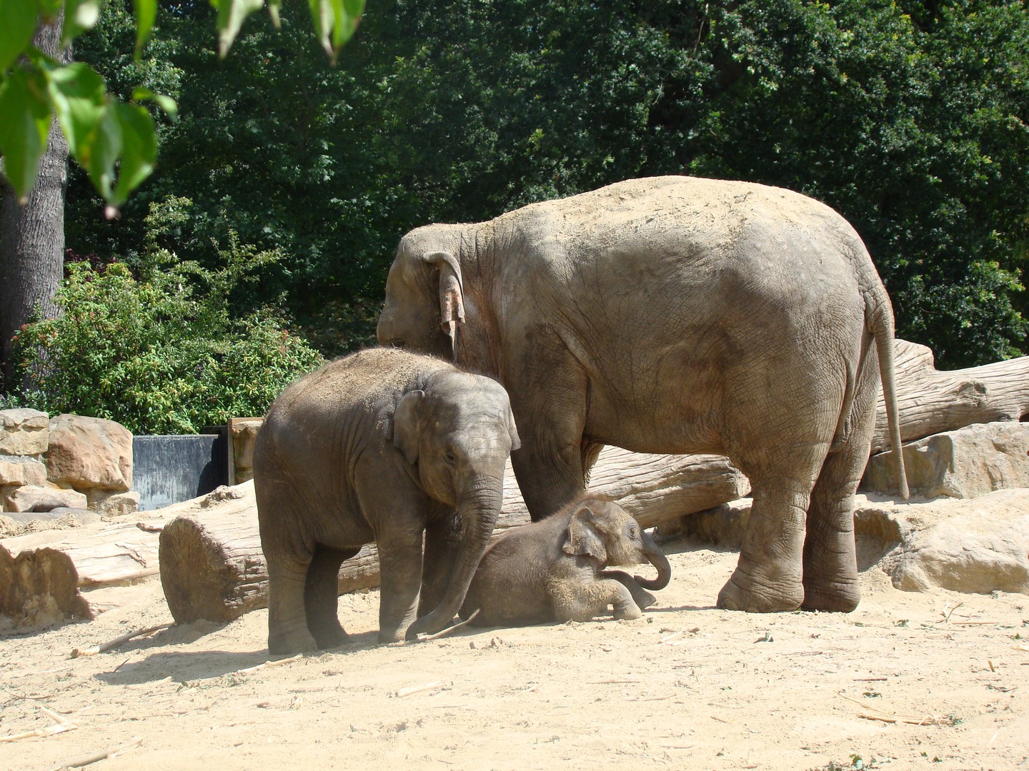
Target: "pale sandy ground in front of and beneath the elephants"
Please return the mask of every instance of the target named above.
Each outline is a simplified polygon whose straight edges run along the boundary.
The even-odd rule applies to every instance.
[[[107,589],[95,621],[0,634],[0,769],[1029,768],[1029,597],[873,568],[849,615],[732,613],[736,555],[667,548],[637,621],[378,646],[371,591],[341,597],[349,646],[250,671],[264,611],[70,658],[171,621],[157,579]]]

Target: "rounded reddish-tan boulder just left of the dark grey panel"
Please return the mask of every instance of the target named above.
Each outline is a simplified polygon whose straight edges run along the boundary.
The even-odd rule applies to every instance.
[[[132,487],[132,434],[101,417],[58,415],[50,420],[49,480],[79,490]]]

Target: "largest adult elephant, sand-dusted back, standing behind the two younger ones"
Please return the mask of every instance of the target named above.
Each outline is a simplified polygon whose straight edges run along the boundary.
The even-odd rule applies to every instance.
[[[899,446],[893,315],[831,209],[658,177],[421,227],[400,242],[378,335],[504,384],[534,519],[582,492],[604,444],[725,454],[754,501],[719,605],[857,605],[853,494],[880,372]]]

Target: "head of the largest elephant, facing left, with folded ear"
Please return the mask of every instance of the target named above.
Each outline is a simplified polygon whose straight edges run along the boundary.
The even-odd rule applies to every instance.
[[[429,225],[403,237],[386,280],[380,345],[453,359],[464,324],[460,226]]]

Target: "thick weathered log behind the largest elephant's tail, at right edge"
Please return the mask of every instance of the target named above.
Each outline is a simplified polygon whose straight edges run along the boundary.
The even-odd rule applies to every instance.
[[[1029,356],[981,367],[939,371],[932,350],[897,340],[900,438],[914,442],[975,423],[1019,420],[1029,414]],[[882,390],[872,452],[889,449]]]

